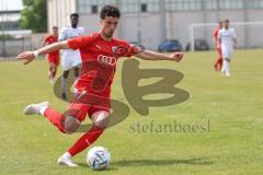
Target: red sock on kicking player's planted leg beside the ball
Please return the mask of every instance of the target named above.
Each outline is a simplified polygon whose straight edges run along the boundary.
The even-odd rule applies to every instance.
[[[75,156],[79,152],[83,151],[90,144],[92,144],[104,131],[104,129],[93,126],[87,133],[84,133],[69,150],[71,156]]]

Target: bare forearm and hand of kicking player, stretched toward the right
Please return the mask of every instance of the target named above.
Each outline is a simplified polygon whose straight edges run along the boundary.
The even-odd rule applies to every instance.
[[[164,55],[152,50],[144,50],[137,55],[136,57],[144,60],[171,60],[171,61],[181,61],[183,58],[183,52],[174,52],[172,55]]]

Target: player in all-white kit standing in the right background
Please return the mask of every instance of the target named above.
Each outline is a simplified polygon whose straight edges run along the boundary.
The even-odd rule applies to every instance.
[[[224,28],[219,31],[218,43],[221,44],[222,69],[221,73],[229,77],[229,63],[231,61],[233,48],[237,47],[237,36],[233,28],[229,27],[229,20],[224,21]]]

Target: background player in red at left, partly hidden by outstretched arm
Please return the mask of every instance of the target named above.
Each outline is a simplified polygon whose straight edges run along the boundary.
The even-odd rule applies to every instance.
[[[56,42],[58,42],[58,27],[54,26],[53,27],[53,34],[47,35],[44,38],[43,46],[50,45],[50,44],[54,44]],[[48,79],[49,79],[50,83],[53,83],[53,81],[56,77],[56,73],[57,73],[57,67],[59,65],[59,50],[48,52],[47,54],[47,60],[48,60],[48,63],[49,63]]]

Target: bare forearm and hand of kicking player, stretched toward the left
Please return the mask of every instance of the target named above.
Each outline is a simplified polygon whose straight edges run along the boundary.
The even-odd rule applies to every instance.
[[[39,48],[37,50],[34,50],[34,51],[21,52],[20,55],[18,55],[16,58],[25,60],[24,65],[27,65],[41,55],[45,55],[45,54],[56,51],[56,50],[59,50],[59,49],[69,49],[69,48],[70,47],[68,45],[68,42],[64,40],[64,42],[54,43],[52,45],[47,45],[47,46],[42,47],[42,48]]]

